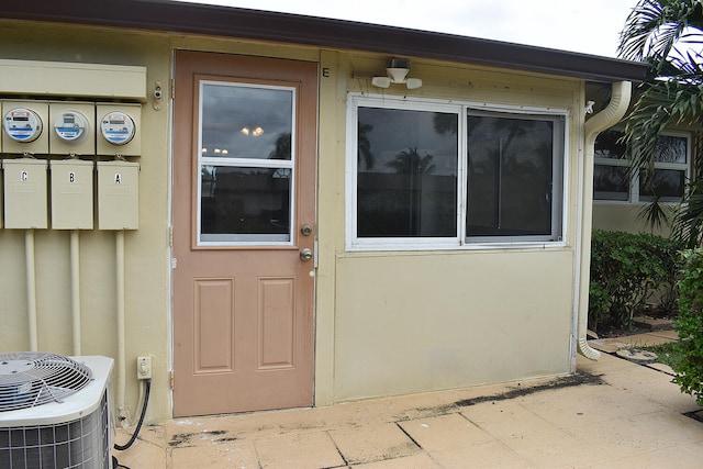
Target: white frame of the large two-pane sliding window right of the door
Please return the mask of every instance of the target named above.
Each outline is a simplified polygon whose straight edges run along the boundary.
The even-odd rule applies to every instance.
[[[457,165],[457,213],[456,234],[449,237],[359,237],[357,236],[357,175],[358,175],[358,109],[382,108],[411,111],[437,111],[456,113],[458,119],[458,165]],[[538,120],[545,118],[558,125],[553,135],[553,206],[551,233],[549,235],[528,236],[473,236],[467,238],[467,178],[468,178],[468,114],[491,115],[498,118],[528,116]],[[345,158],[345,247],[348,252],[364,250],[442,250],[442,249],[495,249],[525,247],[563,247],[567,238],[568,202],[568,109],[506,105],[461,100],[440,100],[428,98],[408,98],[401,96],[350,92],[347,96],[346,158]],[[558,136],[558,137],[556,137]],[[555,175],[560,182],[555,181]]]

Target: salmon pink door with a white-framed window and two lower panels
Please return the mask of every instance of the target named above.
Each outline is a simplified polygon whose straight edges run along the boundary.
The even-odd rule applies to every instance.
[[[316,77],[176,54],[175,416],[312,404]]]

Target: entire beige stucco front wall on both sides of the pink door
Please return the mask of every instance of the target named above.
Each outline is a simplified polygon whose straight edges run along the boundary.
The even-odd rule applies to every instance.
[[[110,37],[108,41],[105,37]],[[0,57],[144,66],[147,96],[168,83],[174,48],[320,62],[319,269],[315,403],[421,392],[572,370],[578,80],[413,59],[424,86],[387,93],[566,109],[566,243],[532,249],[416,253],[345,250],[345,126],[349,91],[377,92],[387,56],[233,40],[0,21]],[[0,81],[1,83],[1,81]],[[1,85],[0,85],[1,87]],[[168,86],[165,90],[168,94]],[[0,90],[1,93],[1,90]],[[166,97],[168,98],[168,96]],[[171,415],[170,107],[143,104],[140,230],[125,236],[126,411],[134,416],[137,355],[154,356],[147,421]],[[69,237],[36,232],[40,349],[71,353]],[[0,230],[0,351],[29,348],[24,233]],[[116,356],[115,236],[80,236],[83,355]]]

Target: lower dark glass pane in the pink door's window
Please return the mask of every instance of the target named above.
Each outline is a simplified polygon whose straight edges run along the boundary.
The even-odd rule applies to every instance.
[[[203,166],[201,241],[290,241],[290,168]]]

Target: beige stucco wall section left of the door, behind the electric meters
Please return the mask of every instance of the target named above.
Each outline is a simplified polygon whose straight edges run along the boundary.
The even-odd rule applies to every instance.
[[[87,27],[0,21],[0,57],[144,66],[149,93],[155,81],[168,83],[170,77],[170,48],[165,38],[133,33],[114,35]],[[1,88],[0,79],[0,94]],[[135,360],[138,355],[152,355],[154,386],[147,414],[152,421],[170,415],[169,119],[168,107],[157,111],[150,100],[142,107],[142,156],[130,158],[141,165],[140,228],[126,232],[124,237],[126,391],[123,414],[138,417]],[[115,233],[98,228],[82,231],[79,245],[80,353],[116,358]],[[35,253],[38,349],[72,355],[69,233],[35,231]],[[3,259],[0,351],[29,350],[23,231],[0,230],[0,257]],[[113,386],[115,383],[113,375]]]

